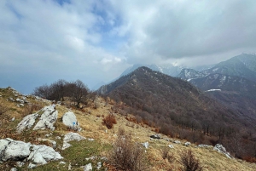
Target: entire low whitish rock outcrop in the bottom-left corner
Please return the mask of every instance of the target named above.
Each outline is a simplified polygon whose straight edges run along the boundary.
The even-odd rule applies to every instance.
[[[53,148],[46,145],[31,145],[19,140],[0,140],[0,161],[29,161],[29,168],[62,159]]]

